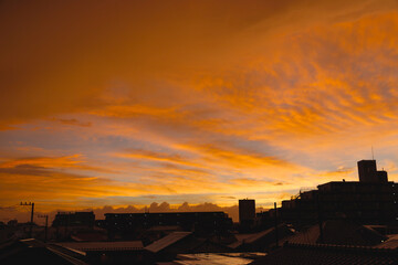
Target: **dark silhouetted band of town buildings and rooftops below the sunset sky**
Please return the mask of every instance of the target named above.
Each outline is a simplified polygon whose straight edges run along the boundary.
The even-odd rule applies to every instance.
[[[398,186],[376,160],[357,162],[358,180],[300,190],[255,213],[239,200],[239,223],[223,211],[59,212],[51,224],[0,223],[1,262],[72,264],[396,264]],[[21,203],[31,206],[33,203]],[[107,210],[111,210],[108,208]],[[132,209],[130,209],[132,210]],[[41,215],[43,218],[44,215]],[[46,216],[45,216],[46,218]],[[21,254],[18,254],[21,253]],[[56,254],[56,255],[54,255]],[[51,259],[48,261],[48,259]],[[57,263],[57,262],[56,262]],[[70,263],[67,263],[70,264]]]

